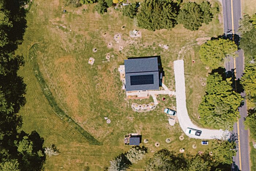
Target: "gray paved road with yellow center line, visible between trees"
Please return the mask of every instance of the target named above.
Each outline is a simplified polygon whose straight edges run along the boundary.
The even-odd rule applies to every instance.
[[[224,33],[232,33],[232,17],[231,17],[231,0],[222,0],[222,7],[223,7],[223,21],[224,21]],[[237,29],[239,27],[239,19],[241,18],[241,3],[240,0],[233,0],[233,27],[234,27],[234,34],[237,33]],[[238,53],[238,57],[236,57],[236,66],[234,67],[234,60],[233,58],[229,58],[225,62],[225,68],[228,73],[232,73],[234,68],[236,68],[236,79],[241,79],[243,70],[244,70],[244,57],[243,51],[240,50]],[[241,93],[244,96],[244,93]],[[248,143],[248,131],[244,129],[244,118],[247,116],[246,110],[246,103],[242,107],[238,109],[240,111],[241,118],[239,119],[239,132],[240,132],[240,149],[241,154],[239,151],[237,152],[237,156],[233,157],[233,170],[242,170],[242,171],[249,171],[250,170],[250,157],[249,157],[249,143]],[[233,134],[238,133],[238,126],[237,123],[234,124]],[[241,157],[241,165],[239,160],[239,155]],[[241,166],[241,168],[240,168]]]

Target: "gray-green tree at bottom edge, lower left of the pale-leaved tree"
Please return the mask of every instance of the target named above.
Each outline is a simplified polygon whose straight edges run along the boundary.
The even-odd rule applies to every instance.
[[[126,154],[121,153],[114,160],[110,161],[109,171],[125,171],[131,165],[131,161],[129,161],[126,157]]]

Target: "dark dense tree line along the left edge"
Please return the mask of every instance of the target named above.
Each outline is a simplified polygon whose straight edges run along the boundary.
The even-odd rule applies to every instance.
[[[23,41],[28,3],[0,0],[0,170],[42,170],[46,158],[44,138],[20,130],[18,115],[26,103],[26,84],[17,74],[24,59],[15,50]]]

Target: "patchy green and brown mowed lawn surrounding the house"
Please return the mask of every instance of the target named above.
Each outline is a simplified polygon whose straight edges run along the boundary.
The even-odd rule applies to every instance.
[[[178,24],[171,31],[151,32],[135,27],[132,19],[112,8],[107,14],[98,15],[93,6],[69,8],[58,0],[35,0],[27,15],[24,42],[17,51],[26,60],[19,71],[27,84],[27,103],[20,115],[23,117],[22,129],[27,132],[37,130],[45,138],[45,146],[56,144],[60,149],[60,155],[47,158],[45,170],[82,170],[87,165],[91,170],[103,170],[109,166],[109,160],[128,151],[130,147],[123,144],[124,135],[128,133],[141,133],[142,139],[149,140],[148,144],[142,143],[149,153],[131,170],[143,170],[145,161],[161,148],[176,152],[185,148],[185,152],[190,153],[204,151],[207,146],[185,136],[178,123],[169,125],[163,109],[175,107],[174,97],[159,96],[160,104],[153,111],[132,111],[132,102],[148,103],[153,99],[127,100],[117,68],[127,57],[160,55],[165,71],[164,83],[170,90],[175,90],[173,61],[184,59],[188,111],[197,122],[197,107],[204,94],[201,83],[208,71],[199,60],[196,38],[217,36],[222,33],[222,25],[214,18],[198,31],[186,30]],[[63,14],[63,9],[67,13]],[[133,29],[141,30],[142,38],[130,38],[129,31]],[[115,34],[121,35],[119,43],[114,40]],[[35,42],[39,45],[36,52],[39,71],[56,104],[102,142],[102,146],[87,143],[72,125],[52,110],[28,58],[28,50]],[[108,43],[113,43],[113,47],[108,48]],[[169,49],[163,50],[159,44],[169,45]],[[123,47],[121,52],[118,50],[120,46]],[[93,48],[97,48],[97,52],[94,53]],[[105,58],[108,54],[113,55],[110,61]],[[94,65],[88,64],[90,57],[95,58]],[[166,98],[164,102],[162,97]],[[107,124],[104,117],[111,119],[111,123]],[[178,139],[180,135],[184,135],[183,141]],[[165,142],[166,138],[171,139],[169,144]],[[155,147],[155,142],[159,142],[160,147]],[[192,148],[193,144],[197,149]]]

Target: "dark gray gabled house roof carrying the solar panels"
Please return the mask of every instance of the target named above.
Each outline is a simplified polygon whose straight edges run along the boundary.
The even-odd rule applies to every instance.
[[[124,60],[126,91],[159,90],[158,58]]]

